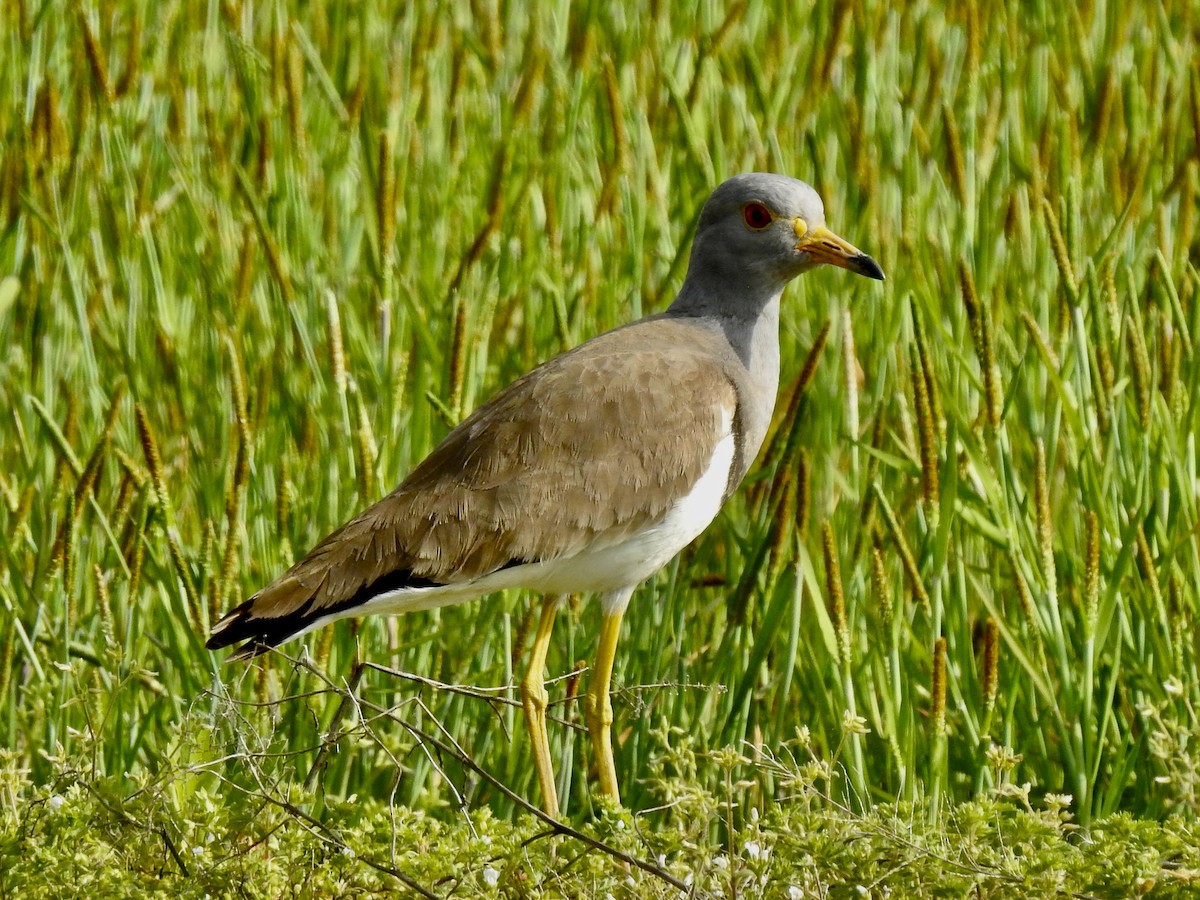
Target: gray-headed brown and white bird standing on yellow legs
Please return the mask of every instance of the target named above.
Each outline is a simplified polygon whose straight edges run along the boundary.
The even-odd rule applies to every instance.
[[[541,806],[560,816],[546,654],[563,600],[601,606],[584,696],[599,792],[620,802],[610,684],[635,588],[715,518],[752,464],[779,388],[785,286],[829,264],[883,270],[826,227],[804,181],[748,173],[701,209],[665,312],[542,362],[475,409],[400,485],[211,630],[248,659],[336,619],[542,595],[521,679]]]

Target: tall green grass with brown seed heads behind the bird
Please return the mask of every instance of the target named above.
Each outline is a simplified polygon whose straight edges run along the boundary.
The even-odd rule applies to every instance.
[[[290,6],[0,12],[7,852],[68,790],[149,792],[163,834],[194,797],[460,838],[518,812],[499,785],[536,802],[526,595],[340,623],[305,665],[204,637],[493,390],[661,310],[750,169],[814,184],[889,280],[788,288],[778,432],[635,595],[637,828],[688,834],[686,798],[716,847],[814,804],[1194,820],[1192,5]],[[598,618],[548,660],[577,823]],[[677,764],[682,733],[715,755]],[[800,745],[820,791],[772,763]]]

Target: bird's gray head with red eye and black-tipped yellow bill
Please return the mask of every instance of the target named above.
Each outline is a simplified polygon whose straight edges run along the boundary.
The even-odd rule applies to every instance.
[[[758,306],[826,263],[883,280],[874,259],[826,228],[824,204],[809,185],[786,175],[734,175],[704,203],[676,306],[727,304],[728,298]]]

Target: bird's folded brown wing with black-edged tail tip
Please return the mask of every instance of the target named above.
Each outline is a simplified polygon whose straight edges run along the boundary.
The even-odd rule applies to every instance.
[[[546,362],[227,614],[209,646],[274,644],[385,590],[467,582],[654,523],[704,472],[736,412],[724,354],[712,331],[659,318]]]

